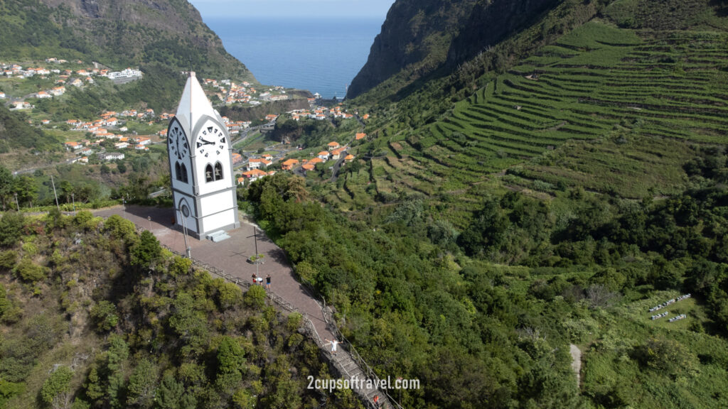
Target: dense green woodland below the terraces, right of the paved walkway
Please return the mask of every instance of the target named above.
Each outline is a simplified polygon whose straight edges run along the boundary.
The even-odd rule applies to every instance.
[[[709,163],[693,170],[704,187],[672,199],[510,191],[486,196],[463,230],[416,194],[350,221],[284,173],[245,198],[380,376],[427,385],[403,392],[405,406],[446,407],[466,382],[462,407],[708,408],[728,387],[728,343],[713,336],[728,330],[728,173],[724,153],[700,158],[686,167]],[[697,295],[670,306],[689,321],[646,319],[678,292]],[[585,351],[579,389],[569,344]]]

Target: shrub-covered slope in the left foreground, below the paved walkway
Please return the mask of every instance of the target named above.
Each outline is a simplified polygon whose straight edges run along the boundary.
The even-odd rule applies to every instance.
[[[361,408],[306,389],[330,369],[262,287],[244,295],[191,269],[118,216],[50,214],[20,230],[0,243],[1,408]],[[44,274],[29,282],[23,263]]]

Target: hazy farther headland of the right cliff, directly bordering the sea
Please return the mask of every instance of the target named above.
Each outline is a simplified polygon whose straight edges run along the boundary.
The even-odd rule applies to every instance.
[[[405,68],[419,78],[438,68],[475,0],[397,0],[374,39],[347,98],[371,90]]]

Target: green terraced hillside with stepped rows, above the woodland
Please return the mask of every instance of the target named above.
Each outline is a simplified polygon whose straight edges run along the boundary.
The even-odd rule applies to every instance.
[[[479,183],[639,198],[684,187],[692,144],[728,139],[728,33],[593,20],[497,76],[369,164],[380,196],[475,199]],[[345,180],[357,191],[360,177]],[[363,189],[358,189],[364,194]],[[368,188],[368,191],[372,191]],[[457,212],[456,212],[457,213]]]

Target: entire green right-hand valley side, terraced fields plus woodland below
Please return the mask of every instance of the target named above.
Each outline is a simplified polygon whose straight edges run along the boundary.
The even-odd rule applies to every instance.
[[[560,2],[350,101],[371,141],[336,183],[278,173],[242,198],[374,370],[424,382],[405,407],[727,405],[716,7]],[[684,293],[662,311],[686,319],[650,319]]]

